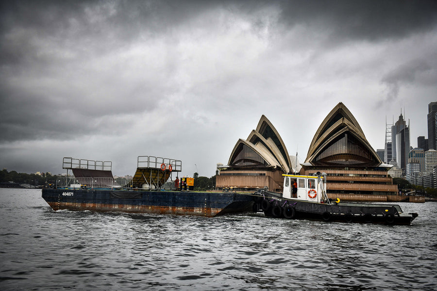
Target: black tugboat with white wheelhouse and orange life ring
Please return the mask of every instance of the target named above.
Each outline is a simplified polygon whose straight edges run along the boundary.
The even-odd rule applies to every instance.
[[[404,213],[399,205],[340,202],[326,194],[326,174],[283,175],[282,194],[260,189],[255,192],[254,210],[272,217],[325,222],[409,225],[417,213]],[[294,187],[293,187],[294,185]]]

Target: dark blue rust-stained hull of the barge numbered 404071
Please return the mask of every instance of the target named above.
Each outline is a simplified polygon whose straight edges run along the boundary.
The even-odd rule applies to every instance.
[[[213,217],[252,211],[253,194],[234,192],[42,189],[53,210],[121,211]]]

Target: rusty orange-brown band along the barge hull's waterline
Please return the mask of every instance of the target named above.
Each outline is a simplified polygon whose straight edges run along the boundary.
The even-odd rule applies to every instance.
[[[150,205],[126,205],[106,203],[70,203],[50,202],[53,210],[90,210],[90,211],[122,211],[129,213],[155,213],[155,214],[177,214],[177,215],[198,215],[214,217],[221,209],[214,208],[192,208],[175,206],[150,206]]]

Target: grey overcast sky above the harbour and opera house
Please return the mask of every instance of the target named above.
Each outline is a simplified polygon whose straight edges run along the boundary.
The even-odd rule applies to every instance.
[[[211,177],[262,114],[301,162],[343,102],[376,150],[437,101],[437,1],[1,1],[0,168],[182,160]]]

